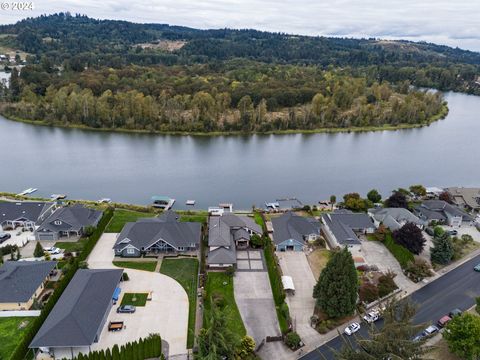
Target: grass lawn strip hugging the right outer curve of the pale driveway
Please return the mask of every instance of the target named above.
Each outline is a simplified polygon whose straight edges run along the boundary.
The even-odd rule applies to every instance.
[[[187,348],[193,348],[195,340],[195,317],[197,307],[197,259],[164,259],[160,272],[175,279],[183,286],[188,295],[188,335]]]

